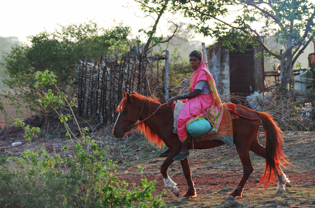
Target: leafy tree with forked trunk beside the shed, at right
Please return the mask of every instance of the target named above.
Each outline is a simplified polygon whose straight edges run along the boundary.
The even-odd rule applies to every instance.
[[[261,45],[267,54],[280,60],[284,88],[292,84],[292,65],[315,36],[315,5],[307,0],[172,0],[169,7],[173,13],[182,12],[196,20],[192,25],[199,33],[220,37],[226,47],[233,49],[236,43],[244,50],[248,44]],[[235,19],[226,19],[236,11],[239,15]],[[274,36],[283,49],[268,48],[264,36]]]

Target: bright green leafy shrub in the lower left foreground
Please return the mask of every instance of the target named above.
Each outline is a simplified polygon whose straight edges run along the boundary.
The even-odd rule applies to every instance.
[[[57,88],[55,75],[52,72],[37,72],[37,86],[52,85]],[[60,92],[60,91],[59,91]],[[0,206],[5,207],[166,207],[160,196],[153,198],[155,182],[141,179],[140,186],[120,181],[116,172],[116,162],[111,161],[106,150],[88,136],[89,129],[80,129],[81,138],[75,137],[66,124],[70,115],[63,115],[56,106],[71,106],[67,96],[50,92],[38,99],[43,106],[50,106],[59,114],[60,121],[65,123],[66,136],[71,147],[63,155],[50,155],[44,148],[39,151],[26,150],[22,157],[14,157],[6,151],[0,156]],[[31,139],[39,132],[38,128],[25,127],[22,121],[16,121],[25,129],[26,139]],[[108,149],[108,147],[107,147]],[[69,153],[72,152],[72,153]],[[142,172],[143,168],[139,167]]]

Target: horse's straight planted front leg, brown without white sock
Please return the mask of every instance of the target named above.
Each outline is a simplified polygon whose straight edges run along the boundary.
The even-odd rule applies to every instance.
[[[183,168],[184,176],[187,182],[187,191],[181,197],[180,201],[190,200],[191,197],[196,197],[196,189],[194,186],[194,182],[192,182],[192,172],[190,171],[188,158],[186,157],[184,160],[180,161],[181,167]]]

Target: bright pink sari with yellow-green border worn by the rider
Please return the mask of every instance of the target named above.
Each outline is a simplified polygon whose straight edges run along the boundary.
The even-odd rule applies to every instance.
[[[182,100],[185,102],[177,118],[178,138],[181,142],[187,139],[187,127],[195,120],[206,118],[211,124],[212,133],[217,133],[223,116],[222,102],[215,87],[215,81],[205,66],[204,56],[201,52],[199,67],[192,73],[189,92],[195,89],[198,81],[208,82],[211,94],[200,94],[192,99]]]

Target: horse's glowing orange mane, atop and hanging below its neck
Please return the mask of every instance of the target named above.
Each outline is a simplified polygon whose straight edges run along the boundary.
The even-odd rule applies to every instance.
[[[137,92],[133,93],[134,94],[130,95],[131,103],[127,101],[127,97],[124,97],[117,106],[117,112],[123,112],[124,110],[128,111],[130,107],[133,107],[135,109],[137,106],[142,107],[143,105],[145,105],[144,107],[149,108],[149,112],[151,112],[149,105],[150,102],[161,104],[155,96],[151,98],[142,96]],[[137,122],[140,122],[140,120],[138,120]],[[157,134],[152,132],[151,129],[145,123],[139,124],[136,129],[141,134],[143,134],[150,143],[156,144],[159,148],[161,148],[163,140],[159,138]]]

